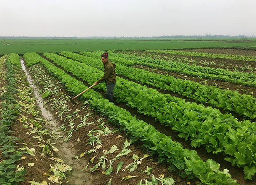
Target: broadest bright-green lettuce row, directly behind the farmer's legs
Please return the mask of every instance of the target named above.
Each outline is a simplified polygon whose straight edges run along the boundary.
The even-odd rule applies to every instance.
[[[52,53],[44,55],[89,84],[93,84],[103,75],[101,70],[86,64]],[[105,89],[104,84],[99,88]],[[224,152],[231,155],[225,159],[233,165],[243,167],[245,178],[254,175],[251,174],[256,161],[252,155],[256,151],[254,123],[248,120],[238,122],[229,114],[221,114],[218,109],[185,102],[183,99],[161,94],[155,89],[148,89],[122,78],[117,78],[115,97],[117,101],[127,102],[140,113],[155,117],[162,124],[181,132],[179,136],[191,139],[192,146],[204,145],[208,152]]]

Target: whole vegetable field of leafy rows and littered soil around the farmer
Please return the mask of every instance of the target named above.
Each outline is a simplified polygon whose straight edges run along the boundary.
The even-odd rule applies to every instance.
[[[256,51],[103,52],[0,58],[1,184],[256,184]]]

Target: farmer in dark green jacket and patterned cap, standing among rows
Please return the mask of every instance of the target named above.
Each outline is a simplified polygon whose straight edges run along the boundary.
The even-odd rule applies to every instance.
[[[100,58],[104,65],[104,76],[94,84],[97,86],[99,83],[105,81],[107,85],[106,97],[110,102],[114,102],[113,90],[116,83],[115,64],[109,61],[109,53],[107,52],[103,53]]]

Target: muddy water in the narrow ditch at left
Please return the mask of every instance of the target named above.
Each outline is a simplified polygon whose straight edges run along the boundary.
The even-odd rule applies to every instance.
[[[44,108],[44,104],[43,104],[44,100],[40,96],[40,94],[38,92],[38,88],[33,83],[33,79],[31,78],[30,74],[27,72],[25,65],[24,65],[24,61],[21,60],[20,63],[22,65],[22,70],[24,71],[28,82],[33,89],[33,92],[37,99],[37,104],[40,107],[41,112],[42,112],[42,117],[50,123],[49,126],[47,126],[48,129],[56,130],[59,125],[59,120],[54,119],[52,114]],[[64,134],[62,132],[55,132],[55,134],[64,136]],[[53,140],[51,140],[51,142],[56,143],[54,146],[59,150],[58,155],[60,156],[60,159],[64,160],[65,164],[70,165],[73,168],[73,170],[71,172],[68,172],[68,174],[67,174],[67,180],[69,180],[69,184],[90,185],[91,184],[91,180],[90,180],[91,174],[82,172],[82,166],[79,164],[79,161],[72,159],[72,157],[75,156],[74,151],[71,150],[72,144],[63,142],[60,139],[53,139]]]

